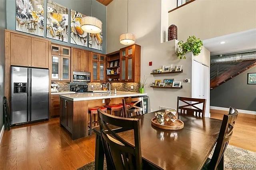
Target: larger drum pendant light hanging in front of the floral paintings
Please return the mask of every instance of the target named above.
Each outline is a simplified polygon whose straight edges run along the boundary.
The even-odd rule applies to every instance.
[[[91,3],[91,16],[85,16],[81,19],[81,28],[82,30],[88,33],[102,32],[101,20],[92,16],[92,3]]]

